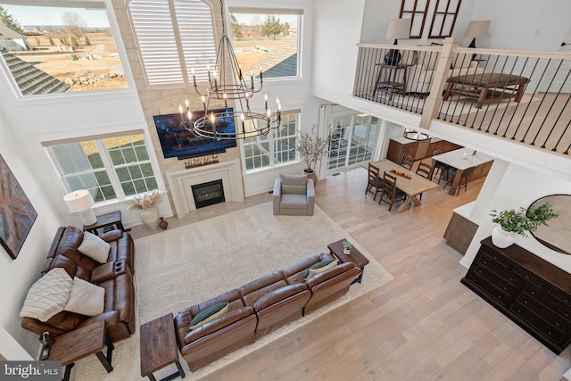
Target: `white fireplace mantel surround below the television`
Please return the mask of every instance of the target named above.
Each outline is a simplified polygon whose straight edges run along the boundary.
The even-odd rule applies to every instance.
[[[244,201],[242,172],[238,159],[225,160],[188,170],[167,170],[170,195],[179,219],[196,210],[191,186],[222,179],[226,201]]]

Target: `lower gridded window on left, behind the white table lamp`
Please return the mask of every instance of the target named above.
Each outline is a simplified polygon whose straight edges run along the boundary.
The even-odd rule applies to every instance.
[[[95,203],[157,189],[143,134],[47,147],[68,192],[87,189]]]

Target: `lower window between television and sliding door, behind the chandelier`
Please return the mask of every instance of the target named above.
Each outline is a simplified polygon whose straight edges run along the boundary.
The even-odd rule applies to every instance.
[[[282,112],[279,128],[267,136],[244,139],[244,159],[246,170],[270,167],[295,160],[294,146],[297,137],[300,113]]]

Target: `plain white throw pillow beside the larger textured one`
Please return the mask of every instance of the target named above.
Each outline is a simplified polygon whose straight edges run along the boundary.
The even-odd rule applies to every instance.
[[[105,289],[86,282],[79,277],[73,278],[70,300],[63,309],[86,316],[95,316],[105,307]]]

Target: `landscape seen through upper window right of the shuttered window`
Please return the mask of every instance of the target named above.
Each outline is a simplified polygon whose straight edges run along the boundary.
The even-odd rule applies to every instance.
[[[232,11],[232,10],[231,10]],[[298,14],[232,12],[232,46],[245,73],[264,79],[299,76]]]

